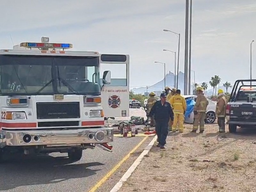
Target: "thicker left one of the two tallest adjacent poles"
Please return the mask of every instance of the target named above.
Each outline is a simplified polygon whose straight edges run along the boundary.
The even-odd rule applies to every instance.
[[[186,0],[184,95],[188,94],[188,7],[189,0]]]

